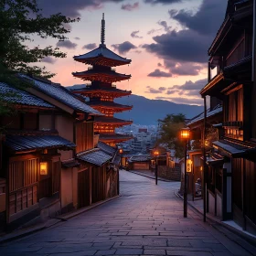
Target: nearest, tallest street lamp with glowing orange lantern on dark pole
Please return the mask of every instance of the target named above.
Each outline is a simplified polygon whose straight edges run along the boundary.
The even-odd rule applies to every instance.
[[[180,131],[180,139],[185,142],[184,153],[184,218],[187,218],[187,143],[189,141],[189,128],[182,128]]]

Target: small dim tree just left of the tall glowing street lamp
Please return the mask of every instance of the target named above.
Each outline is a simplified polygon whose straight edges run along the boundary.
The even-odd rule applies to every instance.
[[[167,114],[164,120],[158,120],[160,123],[160,138],[157,144],[167,144],[168,148],[176,150],[176,157],[183,157],[184,145],[178,138],[178,133],[185,126],[185,115]]]

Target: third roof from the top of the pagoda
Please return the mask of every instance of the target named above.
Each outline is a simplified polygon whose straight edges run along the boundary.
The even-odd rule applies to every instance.
[[[70,90],[74,93],[80,93],[83,94],[85,96],[90,95],[90,94],[94,94],[94,93],[99,93],[100,95],[104,94],[118,94],[120,96],[117,97],[121,97],[124,95],[130,95],[132,93],[132,91],[126,91],[126,90],[121,90],[121,89],[117,89],[115,87],[108,87],[108,88],[103,88],[103,87],[94,87],[94,86],[87,86],[84,88],[80,88],[80,89],[73,89]]]

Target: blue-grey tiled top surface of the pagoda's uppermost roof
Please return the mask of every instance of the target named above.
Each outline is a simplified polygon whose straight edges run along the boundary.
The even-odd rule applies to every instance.
[[[131,62],[131,59],[124,59],[123,57],[112,52],[112,50],[110,50],[109,48],[101,47],[101,46],[99,48],[95,48],[95,49],[91,50],[88,53],[85,53],[85,54],[82,54],[79,56],[74,56],[74,59],[80,60],[80,59],[91,59],[91,58],[99,58],[99,57],[122,61],[125,64],[129,64]]]

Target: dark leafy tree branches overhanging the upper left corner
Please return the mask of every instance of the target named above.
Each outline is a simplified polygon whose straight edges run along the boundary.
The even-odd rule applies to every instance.
[[[53,77],[55,74],[36,63],[45,57],[65,58],[66,53],[52,46],[29,48],[27,43],[34,37],[64,40],[70,32],[67,25],[78,20],[61,14],[44,17],[36,0],[0,0],[0,81],[26,86],[16,78],[18,72]],[[0,95],[0,112],[8,112],[1,99]]]

